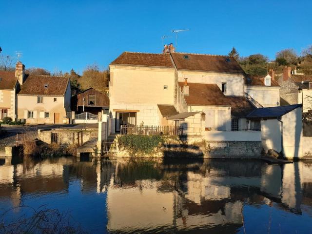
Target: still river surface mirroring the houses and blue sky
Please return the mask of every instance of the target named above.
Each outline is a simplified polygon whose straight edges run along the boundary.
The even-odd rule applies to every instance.
[[[1,210],[42,204],[93,233],[306,233],[312,163],[1,158]]]

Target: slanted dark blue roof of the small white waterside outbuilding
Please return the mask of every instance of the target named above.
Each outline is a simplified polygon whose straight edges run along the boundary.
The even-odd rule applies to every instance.
[[[247,118],[248,119],[276,119],[280,118],[283,115],[293,111],[294,109],[301,107],[302,104],[294,104],[288,106],[275,106],[275,107],[266,107],[258,108],[251,112]]]

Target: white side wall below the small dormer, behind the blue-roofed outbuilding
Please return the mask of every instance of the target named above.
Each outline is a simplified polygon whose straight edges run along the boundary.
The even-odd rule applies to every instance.
[[[280,106],[279,87],[245,85],[245,93],[263,107]]]

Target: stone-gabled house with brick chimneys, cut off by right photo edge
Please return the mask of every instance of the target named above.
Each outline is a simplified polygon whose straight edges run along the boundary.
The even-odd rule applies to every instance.
[[[285,67],[278,78],[281,86],[281,105],[302,104],[302,112],[312,110],[312,76],[292,74],[291,67]]]

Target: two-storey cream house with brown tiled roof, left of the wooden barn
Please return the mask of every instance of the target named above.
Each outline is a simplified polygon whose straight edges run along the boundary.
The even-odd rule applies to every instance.
[[[29,124],[66,123],[70,105],[69,78],[25,75],[17,94],[17,118]]]

